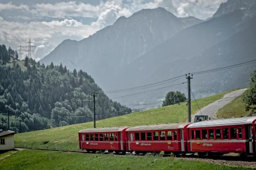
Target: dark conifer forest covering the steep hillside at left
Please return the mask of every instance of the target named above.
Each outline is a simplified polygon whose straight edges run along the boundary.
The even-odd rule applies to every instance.
[[[21,61],[16,51],[0,45],[0,113],[9,111],[10,129],[18,131],[19,120],[22,132],[90,122],[92,92],[98,93],[96,120],[131,112],[110,100],[86,72],[28,57]],[[0,114],[0,129],[7,130],[7,121]]]

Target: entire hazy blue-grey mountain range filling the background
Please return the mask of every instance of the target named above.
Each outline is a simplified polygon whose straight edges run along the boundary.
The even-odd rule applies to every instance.
[[[178,18],[163,8],[143,9],[81,41],[63,41],[40,62],[87,71],[103,90],[141,86],[255,59],[255,21],[255,0],[228,0],[207,20]],[[191,90],[198,98],[244,87],[255,66],[194,75]],[[184,77],[180,83],[185,81]],[[175,82],[158,87],[172,84]],[[154,90],[158,87],[142,89],[153,89],[150,93],[127,96],[123,104],[159,103],[167,91],[186,91],[186,85]]]

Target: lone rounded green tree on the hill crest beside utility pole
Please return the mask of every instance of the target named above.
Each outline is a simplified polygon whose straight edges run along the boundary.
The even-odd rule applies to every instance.
[[[176,92],[170,91],[166,94],[165,100],[163,101],[162,106],[173,105],[173,104],[177,104],[185,101],[186,101],[186,97],[184,93],[181,93],[180,91],[176,91]]]

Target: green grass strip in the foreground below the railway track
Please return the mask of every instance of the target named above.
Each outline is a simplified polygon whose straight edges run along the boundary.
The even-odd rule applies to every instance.
[[[1,157],[1,155],[0,155]],[[3,169],[251,169],[163,157],[24,150],[0,160]]]

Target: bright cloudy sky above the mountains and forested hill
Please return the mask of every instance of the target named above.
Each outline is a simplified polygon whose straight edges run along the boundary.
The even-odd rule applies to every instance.
[[[120,16],[163,7],[178,17],[211,17],[227,0],[20,0],[0,1],[0,44],[13,49],[34,42],[33,58],[49,54],[65,39],[81,40]],[[26,48],[24,48],[26,50]],[[25,57],[26,52],[22,57]]]

